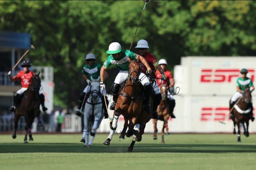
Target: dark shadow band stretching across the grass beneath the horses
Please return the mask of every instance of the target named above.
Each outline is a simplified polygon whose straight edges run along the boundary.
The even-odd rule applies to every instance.
[[[94,144],[87,148],[82,143],[0,143],[0,153],[71,152],[71,153],[122,153],[128,144]],[[134,152],[228,153],[256,152],[256,145],[247,144],[137,144]]]

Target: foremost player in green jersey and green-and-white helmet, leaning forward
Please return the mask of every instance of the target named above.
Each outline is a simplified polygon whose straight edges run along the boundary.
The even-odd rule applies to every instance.
[[[148,72],[150,74],[152,73],[152,70],[144,57],[142,57],[141,55],[136,54],[134,52],[131,52],[130,50],[122,50],[121,45],[118,42],[112,42],[109,45],[107,53],[110,55],[108,56],[107,60],[103,63],[103,66],[101,67],[101,70],[100,70],[100,81],[101,81],[100,86],[102,88],[105,87],[105,84],[103,82],[105,70],[107,70],[111,64],[116,65],[120,71],[117,74],[115,81],[111,87],[111,93],[113,95],[114,102],[111,104],[110,110],[114,110],[115,104],[116,104],[117,98],[118,98],[119,88],[120,88],[121,84],[128,78],[129,61],[127,58],[130,58],[131,60],[141,61],[142,64],[147,69],[146,72]],[[148,77],[143,72],[140,72],[139,81],[141,82],[145,91],[147,92],[147,93],[144,93],[144,96],[145,96],[144,102],[146,104],[145,110],[147,111],[148,114],[150,114],[151,106],[149,104],[149,99],[150,99],[151,94],[153,93],[153,87],[152,87]],[[153,117],[154,117],[154,115],[153,115]]]

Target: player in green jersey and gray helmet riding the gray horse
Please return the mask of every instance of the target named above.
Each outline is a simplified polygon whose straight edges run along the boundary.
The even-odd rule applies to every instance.
[[[93,53],[89,53],[86,55],[85,60],[87,61],[87,64],[84,65],[82,73],[83,73],[83,77],[87,82],[87,86],[85,87],[84,91],[80,94],[80,98],[79,98],[79,105],[78,105],[78,109],[76,109],[76,115],[77,116],[81,116],[81,114],[83,114],[80,110],[82,106],[82,103],[84,101],[84,97],[86,95],[86,93],[88,93],[90,91],[90,82],[92,81],[91,78],[93,79],[98,79],[100,76],[100,69],[101,69],[101,65],[96,61],[95,55]],[[108,77],[108,73],[105,72],[105,76]],[[108,99],[107,99],[107,95],[106,95],[106,91],[104,91],[105,96],[106,96],[106,102],[108,105]],[[103,93],[102,93],[102,97],[103,97]],[[102,101],[104,101],[104,99],[102,99]],[[107,108],[105,106],[105,104],[103,104],[104,106],[104,116],[105,118],[108,118],[108,113],[107,113]]]

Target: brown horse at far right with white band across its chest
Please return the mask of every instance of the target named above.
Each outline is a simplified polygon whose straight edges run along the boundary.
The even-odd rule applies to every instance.
[[[250,110],[251,110],[251,92],[249,90],[249,88],[245,88],[244,89],[244,93],[243,93],[243,97],[241,98],[241,100],[234,105],[234,110],[233,113],[235,115],[235,119],[236,119],[236,125],[238,127],[238,132],[237,132],[237,141],[240,142],[241,138],[240,138],[240,123],[245,122],[246,123],[246,127],[247,130],[245,132],[246,137],[249,136],[249,120],[250,120]]]

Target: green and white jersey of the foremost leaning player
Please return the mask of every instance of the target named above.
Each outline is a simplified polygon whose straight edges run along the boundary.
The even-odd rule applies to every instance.
[[[137,54],[131,52],[130,50],[123,50],[121,51],[121,56],[117,59],[115,59],[112,54],[109,55],[103,65],[108,68],[111,64],[115,64],[119,70],[128,71],[129,61],[127,57],[129,57],[131,60],[136,60]]]

